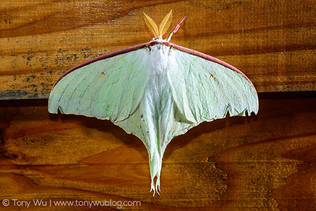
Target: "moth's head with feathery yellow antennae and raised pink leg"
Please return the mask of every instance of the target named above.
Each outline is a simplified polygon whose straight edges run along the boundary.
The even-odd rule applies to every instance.
[[[172,21],[172,10],[170,11],[170,13],[168,13],[166,15],[165,18],[163,18],[163,20],[161,21],[161,23],[159,25],[159,29],[158,29],[158,26],[156,25],[155,21],[152,18],[147,16],[145,13],[144,13],[144,15],[145,15],[146,25],[148,26],[149,30],[154,34],[154,38],[153,39],[162,39],[162,35],[164,35],[167,32],[167,30],[169,29],[169,26],[171,24],[171,21]],[[169,41],[171,39],[171,36],[174,33],[176,33],[176,31],[179,28],[179,25],[182,23],[184,18],[181,20],[181,22],[179,24],[176,25],[176,28],[169,34],[169,36],[167,38],[167,41]]]

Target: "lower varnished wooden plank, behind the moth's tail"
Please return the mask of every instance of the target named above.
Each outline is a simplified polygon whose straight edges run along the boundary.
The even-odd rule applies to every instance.
[[[124,207],[131,210],[315,210],[315,92],[278,99],[286,94],[293,95],[260,94],[257,116],[201,123],[173,139],[155,197],[147,150],[135,136],[109,121],[49,114],[47,100],[0,101],[0,200],[140,201]],[[12,203],[0,201],[0,210],[28,210]]]

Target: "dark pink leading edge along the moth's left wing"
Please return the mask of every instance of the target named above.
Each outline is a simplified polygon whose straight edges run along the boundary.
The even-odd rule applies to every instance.
[[[117,51],[113,51],[113,52],[110,52],[110,53],[105,53],[103,55],[100,55],[100,56],[97,56],[97,57],[94,57],[92,59],[89,59],[79,65],[76,65],[74,67],[72,67],[70,70],[66,71],[64,74],[62,74],[58,80],[56,81],[56,83],[54,84],[53,88],[55,87],[55,85],[65,76],[67,75],[68,73],[70,73],[71,71],[73,70],[77,70],[78,68],[81,68],[83,66],[86,66],[88,64],[91,64],[92,62],[96,62],[96,61],[99,61],[101,59],[105,59],[105,58],[109,58],[109,57],[112,57],[112,56],[116,56],[116,55],[119,55],[119,54],[122,54],[122,53],[127,53],[127,52],[131,52],[131,51],[135,51],[135,50],[138,50],[138,49],[141,49],[141,48],[144,48],[148,46],[148,43],[143,43],[143,44],[140,44],[140,45],[136,45],[136,46],[132,46],[132,47],[128,47],[128,48],[123,48],[123,49],[120,49],[120,50],[117,50]]]

